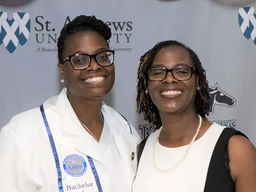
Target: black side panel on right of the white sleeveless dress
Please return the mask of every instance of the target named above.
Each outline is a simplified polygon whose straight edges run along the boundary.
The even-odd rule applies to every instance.
[[[229,172],[228,140],[233,135],[242,135],[240,131],[232,128],[224,128],[214,147],[208,172],[204,192],[234,192],[235,184]],[[247,137],[246,137],[247,138]]]

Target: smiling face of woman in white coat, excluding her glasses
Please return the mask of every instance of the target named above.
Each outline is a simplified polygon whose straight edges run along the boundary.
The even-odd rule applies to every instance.
[[[106,40],[98,32],[78,32],[65,40],[64,58],[77,54],[96,54],[109,50]],[[82,96],[88,99],[101,99],[112,88],[115,79],[114,64],[100,66],[95,58],[84,70],[75,70],[70,60],[58,64],[58,70],[68,87],[68,94]]]

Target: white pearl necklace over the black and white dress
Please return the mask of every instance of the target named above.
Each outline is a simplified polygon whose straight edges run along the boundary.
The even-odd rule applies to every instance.
[[[156,144],[157,142],[159,142],[159,136],[160,136],[160,133],[162,132],[162,129],[163,129],[163,126],[160,127],[159,131],[158,131],[158,134],[156,136],[156,140],[155,140],[155,143],[154,143],[154,153],[153,153],[153,162],[154,162],[154,166],[157,170],[159,170],[160,172],[169,172],[171,170],[173,170],[174,168],[176,168],[178,165],[180,165],[184,159],[186,158],[186,156],[188,155],[188,151],[190,150],[192,144],[194,143],[194,141],[196,140],[197,136],[198,136],[198,133],[200,131],[200,128],[202,126],[202,117],[200,115],[198,115],[198,118],[199,118],[199,125],[198,125],[198,128],[196,130],[196,134],[194,135],[194,137],[192,138],[190,144],[188,145],[187,149],[186,149],[186,152],[184,154],[184,156],[182,157],[182,159],[177,162],[174,166],[172,167],[169,167],[169,168],[166,168],[166,169],[162,169],[160,168],[157,164],[156,164]]]

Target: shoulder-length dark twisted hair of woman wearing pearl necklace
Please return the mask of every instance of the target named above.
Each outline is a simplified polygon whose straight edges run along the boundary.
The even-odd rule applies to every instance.
[[[200,90],[196,92],[196,98],[194,102],[196,114],[199,114],[202,116],[202,118],[207,119],[206,115],[209,115],[210,110],[208,81],[206,80],[205,70],[202,67],[197,54],[189,47],[174,40],[159,42],[152,49],[141,56],[137,78],[137,112],[143,113],[144,120],[151,123],[156,129],[162,126],[162,122],[157,107],[152,102],[149,94],[146,93],[146,89],[148,87],[148,70],[150,69],[150,66],[152,65],[158,51],[166,46],[172,45],[180,46],[186,49],[190,54],[194,67],[196,68],[195,73],[198,77],[198,85],[200,87]]]

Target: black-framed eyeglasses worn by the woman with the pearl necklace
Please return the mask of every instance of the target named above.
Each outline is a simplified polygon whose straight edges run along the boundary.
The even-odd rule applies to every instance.
[[[164,67],[155,67],[148,70],[148,77],[152,81],[162,81],[166,78],[167,73],[171,72],[172,76],[176,80],[189,80],[195,71],[194,67],[174,67],[172,69],[166,69]]]

